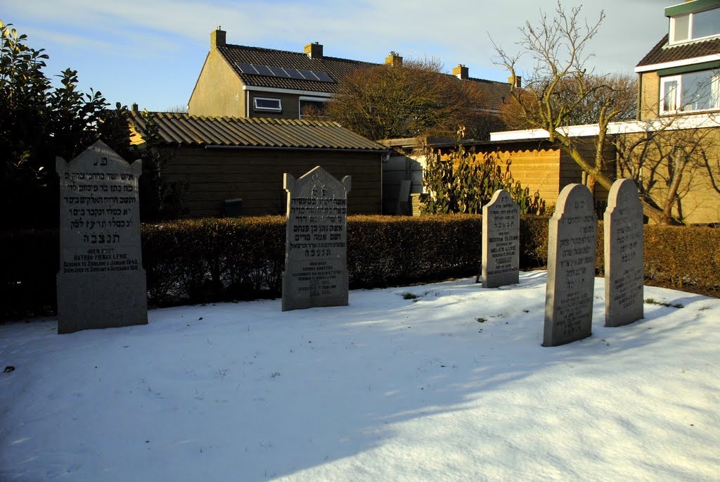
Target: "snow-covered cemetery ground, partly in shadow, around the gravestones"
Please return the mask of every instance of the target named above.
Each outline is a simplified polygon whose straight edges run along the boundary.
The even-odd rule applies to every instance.
[[[720,478],[720,300],[541,347],[546,272],[0,325],[2,481]]]

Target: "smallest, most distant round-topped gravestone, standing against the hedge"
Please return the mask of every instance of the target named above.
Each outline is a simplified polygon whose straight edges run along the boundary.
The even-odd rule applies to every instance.
[[[520,277],[520,206],[498,189],[482,207],[482,287],[518,283]]]

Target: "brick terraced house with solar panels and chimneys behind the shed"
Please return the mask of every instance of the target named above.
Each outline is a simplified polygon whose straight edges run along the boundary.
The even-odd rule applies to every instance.
[[[219,26],[210,33],[210,52],[189,101],[191,115],[300,119],[306,106],[328,102],[343,76],[379,65],[329,57],[317,42],[305,45],[304,52],[289,52],[231,45],[226,37]],[[402,57],[390,52],[385,63],[401,64]],[[485,94],[481,110],[497,113],[510,98],[509,84],[474,79],[462,64],[453,75],[477,82]]]

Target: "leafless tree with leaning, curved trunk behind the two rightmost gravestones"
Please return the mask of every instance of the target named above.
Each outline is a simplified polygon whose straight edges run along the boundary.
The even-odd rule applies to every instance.
[[[614,176],[608,172],[603,155],[609,141],[608,124],[627,115],[627,103],[621,102],[626,98],[627,86],[602,81],[602,77],[588,72],[586,66],[592,54],[586,53],[586,48],[597,34],[605,14],[600,12],[596,22],[588,23],[580,19],[580,9],[573,7],[566,12],[558,3],[556,17],[550,19],[541,12],[539,24],[526,22],[520,29],[518,45],[521,53],[510,54],[500,45],[494,45],[499,63],[508,68],[513,77],[518,75],[518,62],[524,55],[528,55],[534,63],[533,73],[523,89],[511,88],[523,120],[529,126],[547,130],[549,140],[587,174],[586,184],[591,191],[594,191],[595,182],[609,190]],[[592,120],[598,125],[592,159],[563,129],[572,125],[578,110],[588,104],[593,104]],[[668,222],[664,210],[659,207],[660,203],[648,197],[643,197],[642,202],[644,213],[649,218],[657,223]]]

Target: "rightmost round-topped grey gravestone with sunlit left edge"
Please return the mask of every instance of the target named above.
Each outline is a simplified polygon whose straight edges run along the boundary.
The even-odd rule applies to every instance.
[[[613,182],[605,211],[605,326],[644,316],[642,203],[630,179]]]

